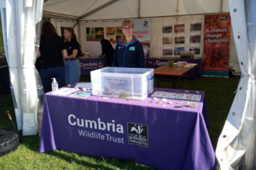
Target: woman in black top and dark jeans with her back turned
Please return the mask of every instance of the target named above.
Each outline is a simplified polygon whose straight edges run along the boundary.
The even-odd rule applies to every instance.
[[[57,36],[57,31],[50,22],[43,23],[37,57],[42,59],[40,76],[44,93],[51,91],[52,78],[56,78],[58,86],[63,87],[67,49],[64,40]]]

